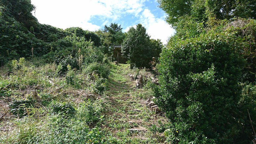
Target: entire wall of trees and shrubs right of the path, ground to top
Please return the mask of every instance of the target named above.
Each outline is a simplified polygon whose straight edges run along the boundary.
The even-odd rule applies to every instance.
[[[171,121],[167,141],[250,143],[256,112],[255,1],[158,2],[177,31],[161,54],[155,89],[156,103]]]

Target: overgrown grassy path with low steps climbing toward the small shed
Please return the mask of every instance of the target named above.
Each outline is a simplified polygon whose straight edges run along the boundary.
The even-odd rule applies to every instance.
[[[106,108],[102,128],[124,143],[164,143],[159,129],[164,130],[167,120],[144,104],[152,91],[136,89],[129,73],[135,72],[127,64],[111,69],[107,90],[101,97]]]

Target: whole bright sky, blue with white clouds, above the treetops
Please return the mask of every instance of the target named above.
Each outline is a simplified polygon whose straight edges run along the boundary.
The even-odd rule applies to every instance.
[[[81,27],[95,31],[111,22],[127,32],[141,23],[151,38],[164,44],[174,30],[165,22],[166,14],[156,0],[31,0],[36,6],[34,15],[42,24],[57,28]]]

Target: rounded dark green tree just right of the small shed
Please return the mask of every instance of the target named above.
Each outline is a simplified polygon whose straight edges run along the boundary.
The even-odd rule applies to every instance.
[[[127,32],[127,37],[122,43],[121,52],[123,56],[130,60],[131,68],[146,67],[150,68],[150,60],[152,57],[159,57],[159,53],[162,49],[162,43],[160,40],[150,39],[141,24],[138,24],[136,28],[131,27]]]

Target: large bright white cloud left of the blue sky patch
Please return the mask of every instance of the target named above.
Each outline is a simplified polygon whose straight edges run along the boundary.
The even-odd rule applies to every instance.
[[[88,30],[100,28],[88,22],[93,16],[101,16],[103,19],[108,18],[113,21],[126,12],[137,16],[142,11],[144,2],[145,0],[31,0],[36,6],[35,16],[40,23],[63,29],[82,27]]]

